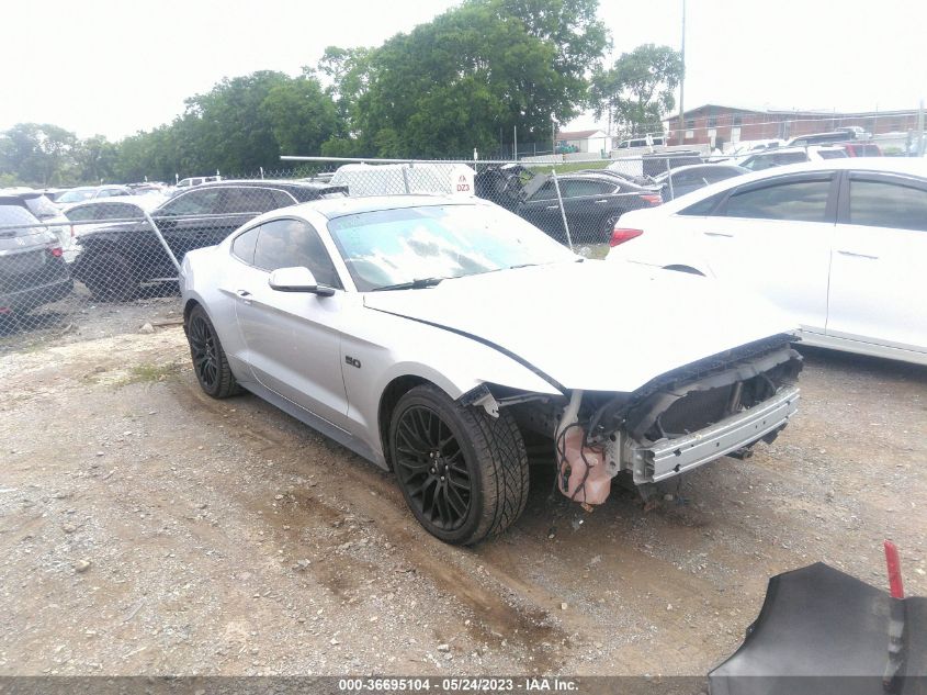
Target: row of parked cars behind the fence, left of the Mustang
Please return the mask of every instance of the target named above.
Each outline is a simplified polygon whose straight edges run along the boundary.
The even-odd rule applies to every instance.
[[[343,194],[342,187],[320,183],[222,181],[191,187],[167,201],[157,195],[94,198],[64,211],[38,192],[0,195],[0,312],[56,302],[71,291],[72,280],[98,300],[126,300],[143,284],[176,283],[168,250],[179,261],[191,249],[218,244],[260,213]],[[18,224],[24,226],[11,227]]]

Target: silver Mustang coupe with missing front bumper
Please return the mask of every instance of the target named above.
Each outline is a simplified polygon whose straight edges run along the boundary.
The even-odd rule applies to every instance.
[[[793,326],[713,280],[574,255],[479,199],[340,198],[190,251],[203,391],[246,389],[391,469],[438,538],[515,522],[528,453],[587,508],[771,441],[796,412]]]

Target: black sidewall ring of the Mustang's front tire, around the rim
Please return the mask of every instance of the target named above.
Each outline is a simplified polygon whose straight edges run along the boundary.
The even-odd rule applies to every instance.
[[[444,529],[438,528],[437,526],[433,526],[431,522],[429,522],[422,516],[422,514],[417,508],[416,503],[411,500],[408,491],[406,490],[406,486],[403,483],[403,479],[400,478],[399,471],[397,470],[398,464],[396,459],[396,430],[398,429],[398,424],[402,419],[403,414],[414,406],[426,406],[432,410],[441,418],[444,425],[451,430],[451,433],[454,435],[454,438],[457,440],[457,444],[460,445],[461,449],[463,450],[464,463],[466,464],[467,473],[471,477],[471,481],[473,481],[474,483],[471,490],[471,501],[470,508],[467,509],[466,520],[459,528],[455,528],[451,531],[446,531]],[[415,515],[418,523],[421,524],[421,526],[429,534],[449,543],[468,542],[468,539],[473,538],[473,536],[479,530],[484,520],[484,491],[486,490],[486,471],[483,469],[483,467],[478,464],[478,456],[476,453],[474,442],[466,435],[465,425],[463,425],[463,423],[466,421],[468,413],[456,404],[454,404],[453,401],[451,401],[449,397],[444,396],[442,399],[431,389],[416,386],[402,399],[399,399],[399,402],[396,404],[396,408],[393,411],[393,417],[389,423],[389,455],[393,461],[393,468],[396,474],[396,479],[399,483],[399,490],[402,490],[403,492],[403,497],[406,501],[406,505]],[[475,423],[472,423],[472,425],[474,428],[476,427]]]

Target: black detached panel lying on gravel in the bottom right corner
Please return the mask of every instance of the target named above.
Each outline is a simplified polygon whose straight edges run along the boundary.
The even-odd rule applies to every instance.
[[[741,648],[709,673],[712,695],[882,695],[891,602],[821,562],[769,580]],[[927,695],[927,598],[903,601],[900,695]]]

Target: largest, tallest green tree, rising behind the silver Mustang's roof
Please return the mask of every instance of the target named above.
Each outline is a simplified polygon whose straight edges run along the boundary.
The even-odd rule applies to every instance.
[[[453,156],[515,126],[546,139],[574,117],[608,45],[598,0],[467,0],[366,54],[327,55],[350,138],[368,155]],[[328,65],[328,64],[327,64]],[[350,83],[347,77],[350,77]],[[346,148],[343,143],[326,149]]]

